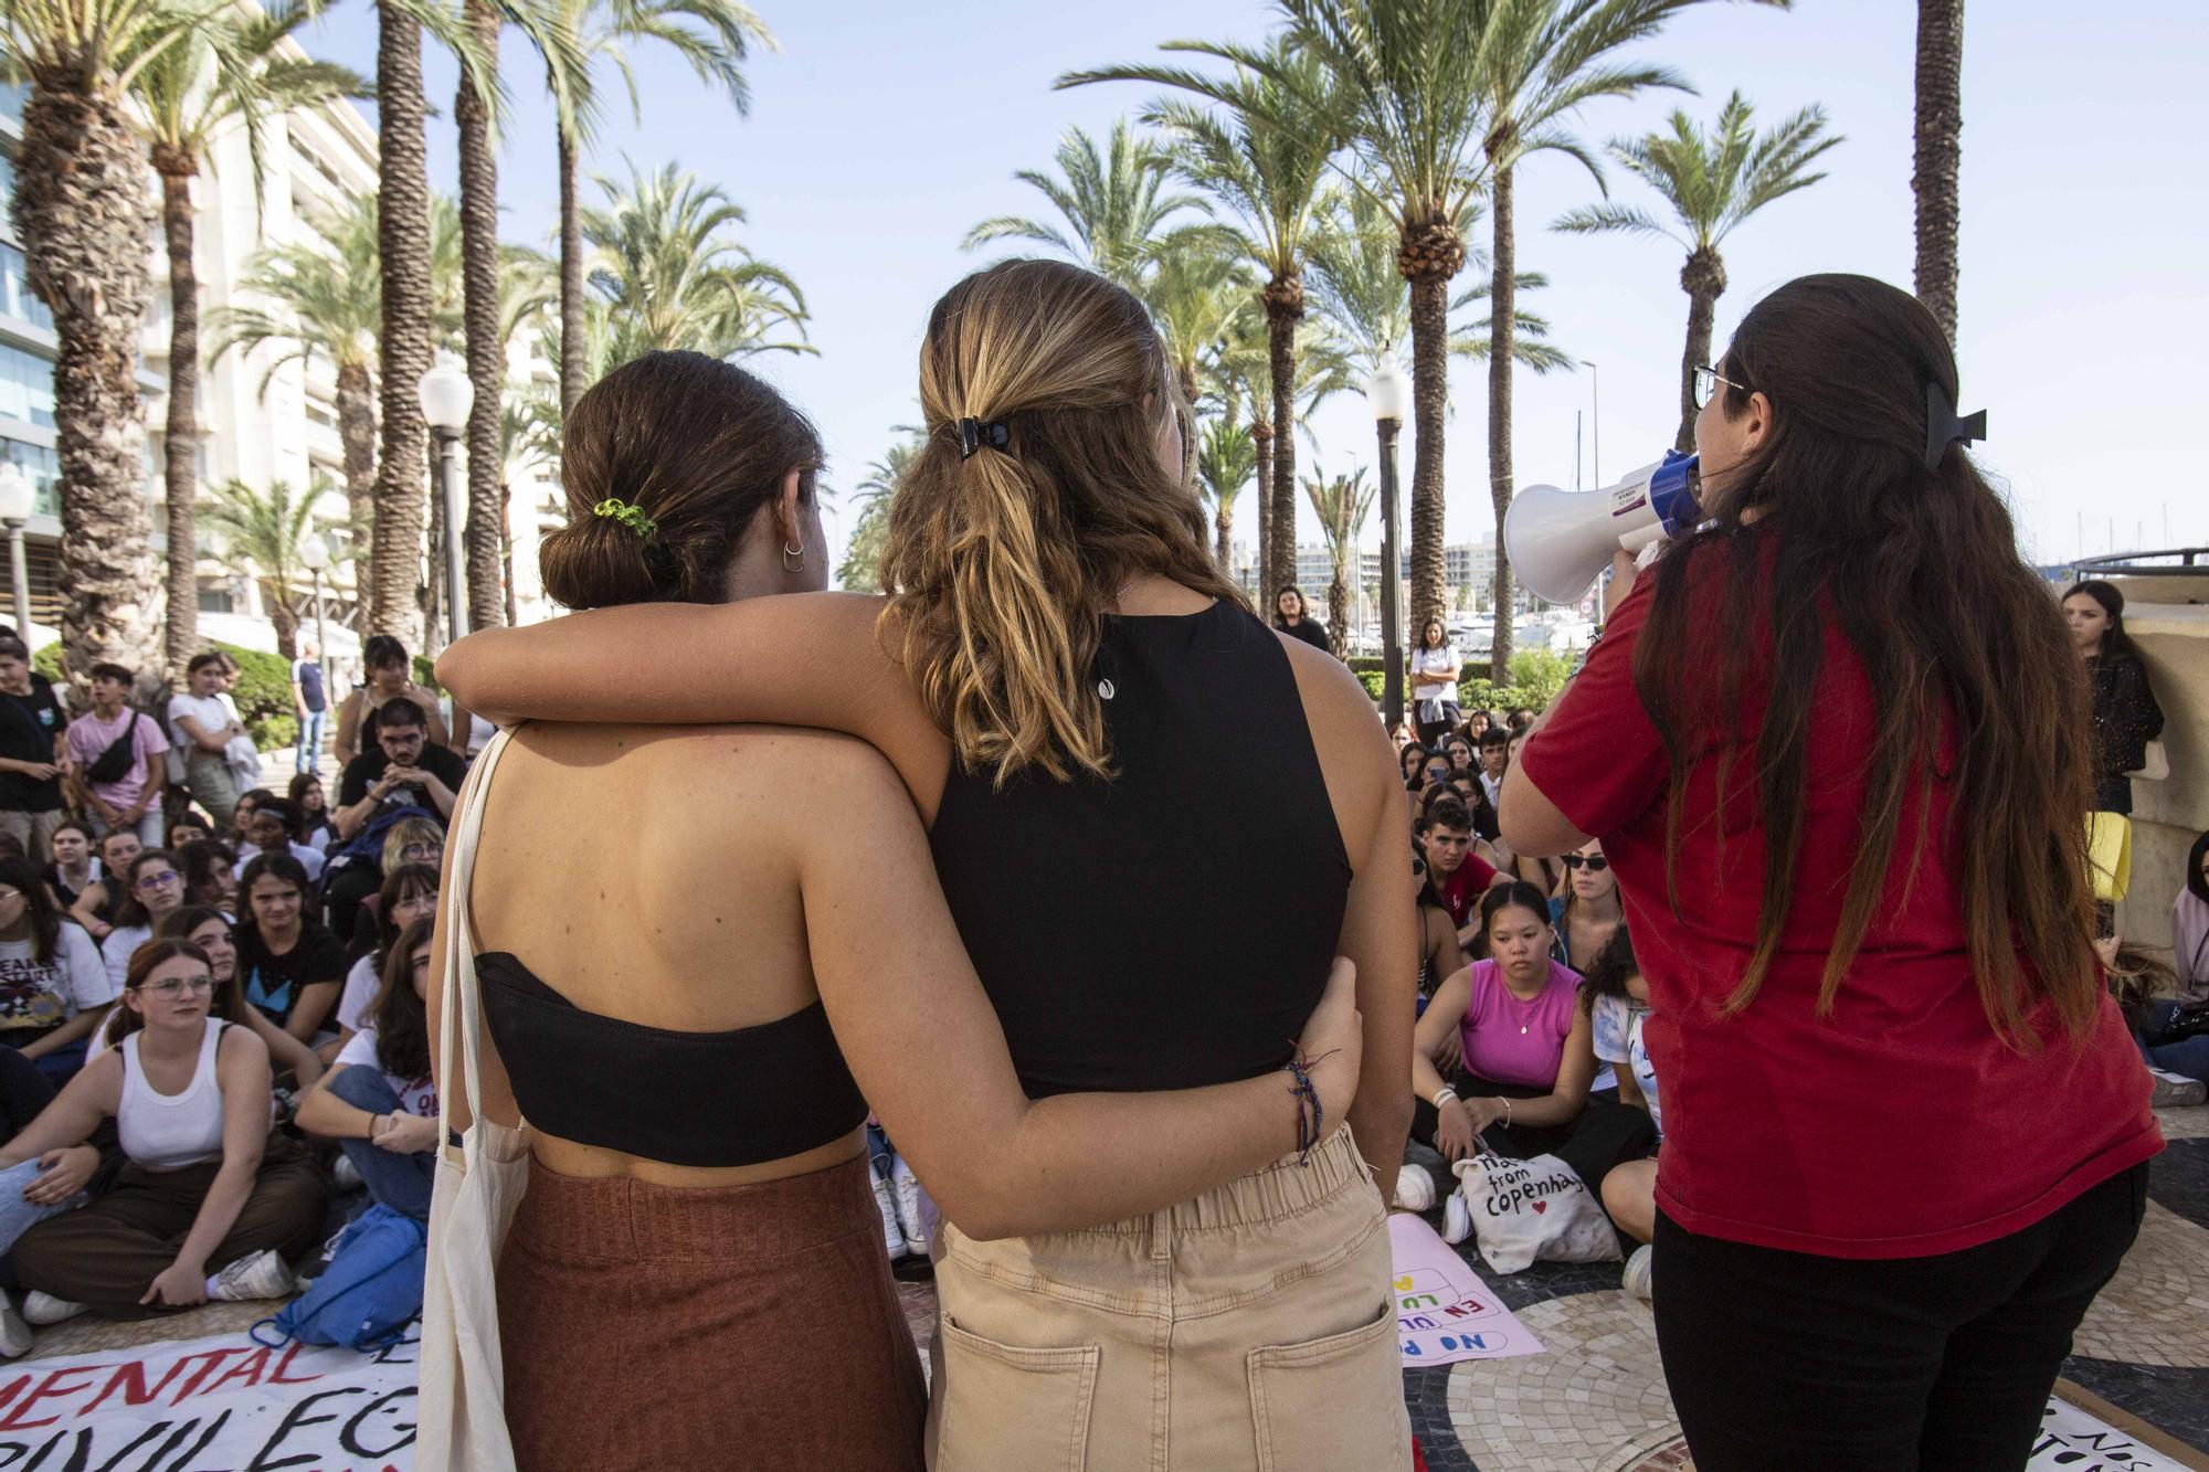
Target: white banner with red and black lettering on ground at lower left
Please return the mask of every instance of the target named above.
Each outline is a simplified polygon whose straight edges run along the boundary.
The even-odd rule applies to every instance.
[[[415,1342],[245,1335],[0,1366],[0,1472],[409,1472]]]

